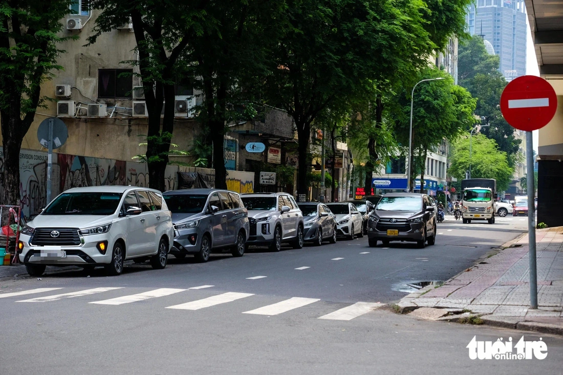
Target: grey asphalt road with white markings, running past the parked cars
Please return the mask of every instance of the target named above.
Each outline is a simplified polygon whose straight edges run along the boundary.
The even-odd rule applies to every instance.
[[[526,223],[463,225],[449,216],[425,249],[369,248],[364,238],[216,255],[206,264],[171,258],[159,271],[130,264],[118,277],[65,270],[41,280],[2,278],[0,373],[562,373],[561,338],[542,336],[544,360],[471,360],[473,336],[538,338],[373,310],[416,282],[459,273]]]

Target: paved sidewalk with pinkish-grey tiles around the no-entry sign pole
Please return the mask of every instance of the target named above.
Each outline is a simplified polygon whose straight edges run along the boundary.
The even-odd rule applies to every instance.
[[[419,318],[563,334],[563,227],[538,229],[536,243],[537,310],[529,308],[527,234],[444,285],[409,294],[399,309],[415,310],[411,314]]]

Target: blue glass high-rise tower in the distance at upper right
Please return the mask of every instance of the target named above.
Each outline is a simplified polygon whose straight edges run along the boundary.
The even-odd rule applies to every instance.
[[[477,0],[469,7],[466,21],[471,35],[481,35],[491,43],[507,81],[526,75],[524,0]]]

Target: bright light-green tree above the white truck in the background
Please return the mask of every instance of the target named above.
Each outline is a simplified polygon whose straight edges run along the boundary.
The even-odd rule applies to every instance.
[[[498,149],[497,143],[485,135],[477,133],[471,140],[471,177],[494,178],[498,191],[508,189],[512,181],[513,168],[508,165],[507,154]],[[449,172],[462,180],[470,164],[469,136],[459,137],[453,144],[452,165]]]

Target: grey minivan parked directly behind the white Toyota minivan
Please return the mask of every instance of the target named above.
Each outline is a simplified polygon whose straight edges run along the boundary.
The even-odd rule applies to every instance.
[[[178,259],[193,254],[207,262],[212,251],[244,255],[250,233],[248,211],[239,194],[219,189],[170,190],[163,195],[172,212],[174,242],[171,253]]]

